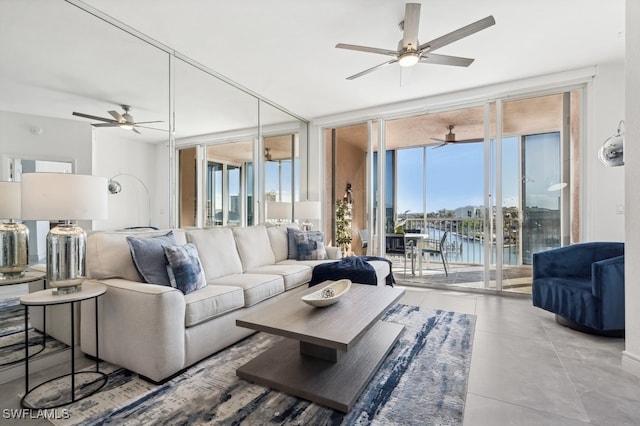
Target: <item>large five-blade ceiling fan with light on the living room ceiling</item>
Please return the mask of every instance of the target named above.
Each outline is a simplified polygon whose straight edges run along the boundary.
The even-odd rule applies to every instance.
[[[418,27],[420,26],[420,4],[407,3],[405,6],[404,20],[400,22],[400,29],[403,31],[402,40],[398,42],[397,50],[380,49],[377,47],[358,46],[355,44],[338,43],[336,47],[339,49],[356,50],[359,52],[377,53],[380,55],[393,56],[388,60],[375,67],[369,68],[357,74],[347,77],[347,80],[353,80],[365,74],[369,74],[375,70],[383,68],[387,65],[398,63],[401,70],[411,67],[417,63],[453,65],[458,67],[468,67],[474,61],[471,58],[462,58],[458,56],[438,55],[432,53],[436,49],[440,49],[448,44],[458,41],[464,37],[470,36],[478,31],[484,30],[496,23],[493,16],[489,15],[479,21],[473,22],[462,28],[458,28],[441,37],[420,44],[418,42]]]

